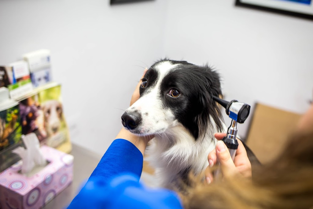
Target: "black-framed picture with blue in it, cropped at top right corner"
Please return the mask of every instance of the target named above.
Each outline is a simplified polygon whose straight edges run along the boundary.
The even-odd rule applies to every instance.
[[[235,5],[313,19],[313,0],[236,0]]]

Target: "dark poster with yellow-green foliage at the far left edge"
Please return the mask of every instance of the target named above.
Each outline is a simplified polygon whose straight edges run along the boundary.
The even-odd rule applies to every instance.
[[[19,108],[14,102],[13,107],[0,110],[0,172],[20,160],[11,150],[21,146],[21,136]]]

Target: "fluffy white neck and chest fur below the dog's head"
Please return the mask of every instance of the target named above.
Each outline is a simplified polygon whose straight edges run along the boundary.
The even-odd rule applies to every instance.
[[[164,133],[155,135],[147,149],[147,159],[155,168],[158,185],[175,189],[182,174],[203,171],[208,166],[208,154],[215,148],[216,132],[218,128],[210,125],[206,134],[195,140],[181,123],[177,123]]]

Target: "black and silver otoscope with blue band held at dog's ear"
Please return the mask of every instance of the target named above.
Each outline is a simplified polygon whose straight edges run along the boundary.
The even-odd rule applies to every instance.
[[[250,105],[238,102],[237,100],[232,100],[230,102],[220,99],[219,97],[213,96],[213,100],[218,102],[226,109],[226,114],[232,119],[230,126],[227,129],[227,135],[222,139],[226,144],[231,158],[235,159],[235,154],[238,149],[238,141],[236,139],[237,135],[237,123],[244,123],[248,118],[250,113]],[[219,165],[219,162],[217,162]],[[220,170],[216,170],[214,175],[218,175]]]

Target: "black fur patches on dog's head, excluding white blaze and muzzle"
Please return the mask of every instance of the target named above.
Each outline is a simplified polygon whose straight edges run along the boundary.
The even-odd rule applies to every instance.
[[[164,107],[174,112],[177,120],[186,127],[195,139],[204,137],[209,116],[212,116],[218,130],[222,130],[221,113],[212,95],[222,94],[219,75],[208,66],[198,66],[186,61],[160,60],[147,71],[142,79],[148,81],[146,88],[140,88],[140,95],[149,92],[149,87],[158,79],[156,65],[162,61],[180,64],[172,69],[162,80],[160,97]],[[169,91],[177,89],[178,97],[171,97]]]

